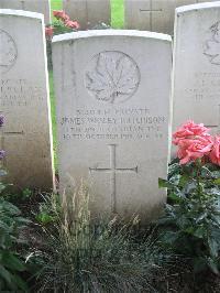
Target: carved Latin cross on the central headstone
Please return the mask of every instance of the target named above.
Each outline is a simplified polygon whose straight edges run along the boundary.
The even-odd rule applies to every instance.
[[[111,211],[117,213],[117,174],[120,173],[136,173],[138,166],[135,167],[117,167],[117,144],[109,144],[110,150],[110,167],[89,167],[90,172],[103,172],[109,173],[110,185],[111,185]]]

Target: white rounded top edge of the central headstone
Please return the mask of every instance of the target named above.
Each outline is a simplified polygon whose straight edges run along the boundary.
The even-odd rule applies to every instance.
[[[154,33],[147,31],[135,30],[89,30],[56,35],[53,37],[53,43],[74,41],[86,37],[99,37],[99,36],[131,36],[131,37],[145,37],[154,39],[158,41],[172,42],[172,36],[163,33]]]

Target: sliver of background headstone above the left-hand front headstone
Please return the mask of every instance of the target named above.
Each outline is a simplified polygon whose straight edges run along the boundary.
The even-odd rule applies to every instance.
[[[44,14],[45,24],[51,23],[50,0],[0,0],[0,9],[33,11]]]

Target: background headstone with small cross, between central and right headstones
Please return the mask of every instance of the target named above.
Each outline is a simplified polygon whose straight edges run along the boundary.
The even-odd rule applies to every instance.
[[[173,35],[175,8],[198,2],[206,0],[125,0],[125,28]]]

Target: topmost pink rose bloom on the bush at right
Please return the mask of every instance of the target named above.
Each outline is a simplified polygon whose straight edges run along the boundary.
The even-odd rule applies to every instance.
[[[196,124],[194,121],[187,121],[173,134],[173,143],[177,145],[183,139],[191,139],[197,135],[209,135],[208,131],[209,129],[202,123]]]

